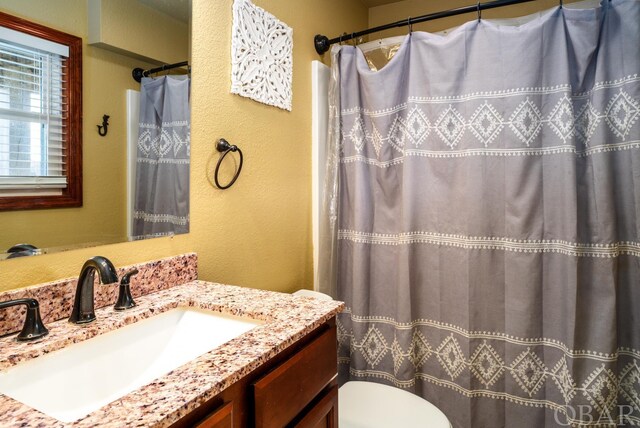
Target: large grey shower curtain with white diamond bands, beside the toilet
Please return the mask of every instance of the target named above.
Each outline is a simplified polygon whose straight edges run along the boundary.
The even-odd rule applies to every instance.
[[[640,3],[332,50],[341,381],[454,427],[640,425]],[[333,281],[335,279],[335,281]]]

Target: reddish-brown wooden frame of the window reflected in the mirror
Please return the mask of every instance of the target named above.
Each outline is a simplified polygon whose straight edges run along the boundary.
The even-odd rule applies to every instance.
[[[67,187],[60,195],[1,196],[0,211],[68,208],[82,206],[82,39],[80,37],[0,12],[0,26],[69,47],[65,61],[67,82],[63,91],[67,107],[63,115],[67,139]]]

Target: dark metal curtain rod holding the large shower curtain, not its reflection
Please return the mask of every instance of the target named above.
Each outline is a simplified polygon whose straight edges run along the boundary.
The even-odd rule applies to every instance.
[[[388,30],[390,28],[396,27],[404,27],[406,25],[417,24],[419,22],[432,21],[434,19],[446,18],[449,16],[462,15],[463,13],[471,13],[477,12],[478,18],[480,17],[480,12],[486,9],[493,9],[496,7],[509,6],[512,4],[519,3],[527,3],[535,0],[495,0],[487,3],[480,3],[472,5],[460,7],[457,9],[444,10],[442,12],[430,13],[428,15],[416,16],[415,18],[407,18],[402,21],[392,22],[391,24],[380,25],[378,27],[369,28],[368,30],[358,31],[357,33],[344,34],[340,37],[335,37],[333,39],[329,39],[327,36],[323,36],[322,34],[316,34],[313,38],[313,44],[315,45],[316,52],[319,55],[322,55],[326,51],[329,50],[329,46],[334,43],[340,43],[351,39],[356,39],[361,36],[366,36],[367,34],[377,33],[378,31]]]

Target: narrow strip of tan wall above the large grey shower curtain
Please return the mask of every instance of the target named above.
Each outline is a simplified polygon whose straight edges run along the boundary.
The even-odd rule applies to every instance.
[[[567,0],[565,3],[572,3],[576,0]],[[512,6],[499,7],[496,9],[485,10],[482,12],[483,18],[514,18],[517,16],[529,15],[541,10],[558,6],[558,0],[535,0],[528,3],[521,3]],[[404,0],[388,5],[376,6],[369,9],[369,27],[377,27],[379,25],[389,24],[391,22],[407,19],[410,16],[427,15],[443,10],[456,9],[459,7],[475,4],[469,0],[448,0],[448,1],[424,1],[424,0]],[[464,14],[452,16],[449,18],[427,21],[413,26],[414,31],[436,32],[446,30],[451,27],[462,25],[465,22],[474,19],[474,14]],[[358,31],[355,28],[353,31]],[[344,30],[352,31],[352,30]],[[391,30],[381,31],[370,35],[369,40],[381,39],[385,37],[404,35],[408,32],[408,27],[394,28]]]

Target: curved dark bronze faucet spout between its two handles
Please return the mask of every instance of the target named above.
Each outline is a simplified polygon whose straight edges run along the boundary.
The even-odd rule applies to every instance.
[[[116,268],[106,257],[96,256],[87,260],[78,277],[76,287],[76,297],[73,303],[73,310],[69,317],[69,322],[74,324],[86,324],[95,321],[93,302],[93,282],[95,272],[100,274],[100,281],[103,284],[118,282]]]

